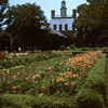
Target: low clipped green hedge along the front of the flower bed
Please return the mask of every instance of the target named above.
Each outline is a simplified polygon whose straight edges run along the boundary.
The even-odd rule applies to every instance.
[[[72,97],[31,96],[23,94],[3,94],[0,96],[0,108],[78,108]]]

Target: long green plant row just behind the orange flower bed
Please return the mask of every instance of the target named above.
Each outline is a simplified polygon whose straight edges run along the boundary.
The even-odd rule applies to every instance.
[[[26,56],[5,58],[0,60],[0,69],[11,68],[19,65],[27,65],[35,62],[48,60],[50,58],[71,56],[71,53],[60,51],[48,51],[42,53],[35,53]]]

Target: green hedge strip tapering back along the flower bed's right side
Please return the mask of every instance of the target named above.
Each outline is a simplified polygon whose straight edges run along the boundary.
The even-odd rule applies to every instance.
[[[76,99],[80,108],[106,108],[106,55],[103,54],[95,67],[89,72],[86,81],[78,91]]]

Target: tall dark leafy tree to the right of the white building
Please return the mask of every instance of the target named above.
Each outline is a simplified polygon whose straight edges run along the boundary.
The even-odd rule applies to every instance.
[[[78,6],[78,38],[82,38],[83,45],[86,46],[106,45],[108,42],[108,2],[103,0],[87,1],[89,4]]]

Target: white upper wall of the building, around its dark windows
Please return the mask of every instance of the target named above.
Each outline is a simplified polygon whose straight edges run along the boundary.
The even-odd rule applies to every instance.
[[[65,24],[68,25],[68,30],[72,30],[73,18],[52,18],[50,19],[50,28],[53,29],[53,25],[57,25],[57,30],[59,30],[59,25],[63,25],[63,30],[65,30]],[[53,29],[54,30],[54,29]]]

